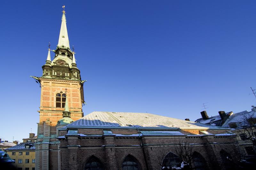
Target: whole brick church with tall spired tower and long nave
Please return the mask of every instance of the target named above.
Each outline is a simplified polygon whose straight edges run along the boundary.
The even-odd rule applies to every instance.
[[[37,170],[160,170],[179,169],[184,164],[213,170],[232,166],[236,134],[229,128],[150,113],[94,111],[84,116],[85,81],[78,69],[83,63],[76,64],[70,49],[64,8],[53,60],[50,51],[43,75],[32,76],[41,86]],[[189,152],[185,157],[181,148]]]

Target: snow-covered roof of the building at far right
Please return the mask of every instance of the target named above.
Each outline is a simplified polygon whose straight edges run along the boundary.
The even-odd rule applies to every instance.
[[[253,110],[250,112],[248,112],[247,110],[244,110],[242,112],[235,113],[235,114],[229,116],[229,119],[227,119],[227,121],[222,125],[222,127],[229,127],[229,124],[231,124],[231,123],[241,122],[241,119],[245,115],[254,115],[254,117],[256,117],[256,112],[254,112]]]

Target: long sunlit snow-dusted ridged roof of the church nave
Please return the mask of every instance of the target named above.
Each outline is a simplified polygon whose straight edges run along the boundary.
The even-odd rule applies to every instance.
[[[216,127],[208,124],[201,124],[185,121],[172,117],[154,115],[150,113],[130,112],[102,112],[94,111],[75,122],[68,124],[72,126],[102,126],[102,127]]]

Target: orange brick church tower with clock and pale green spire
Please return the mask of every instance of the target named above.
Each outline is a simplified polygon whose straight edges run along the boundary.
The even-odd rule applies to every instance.
[[[43,75],[33,77],[41,84],[41,101],[36,143],[36,169],[60,169],[56,128],[83,117],[84,90],[74,50],[70,50],[63,6],[56,50],[48,49]],[[53,60],[50,52],[55,53]],[[68,96],[68,97],[67,97]],[[60,126],[62,125],[62,126]]]

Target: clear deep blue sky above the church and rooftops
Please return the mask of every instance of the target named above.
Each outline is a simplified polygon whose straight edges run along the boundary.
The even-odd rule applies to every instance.
[[[56,48],[62,5],[92,111],[200,118],[256,105],[255,1],[1,2],[0,138],[37,132],[48,42]],[[54,53],[51,53],[52,57]]]

